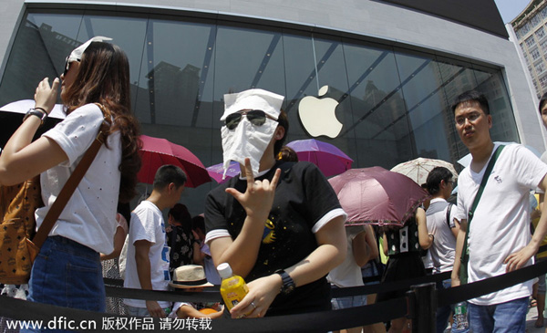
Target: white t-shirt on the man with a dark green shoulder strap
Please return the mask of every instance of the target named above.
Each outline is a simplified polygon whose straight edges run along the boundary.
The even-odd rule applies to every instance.
[[[467,219],[486,166],[479,173],[467,167],[459,174],[458,219]],[[508,145],[501,151],[468,228],[470,283],[504,274],[505,258],[528,245],[531,240],[528,193],[546,173],[547,165],[520,144]],[[526,265],[532,265],[532,259]],[[531,293],[532,280],[470,302],[494,305],[529,297]]]

